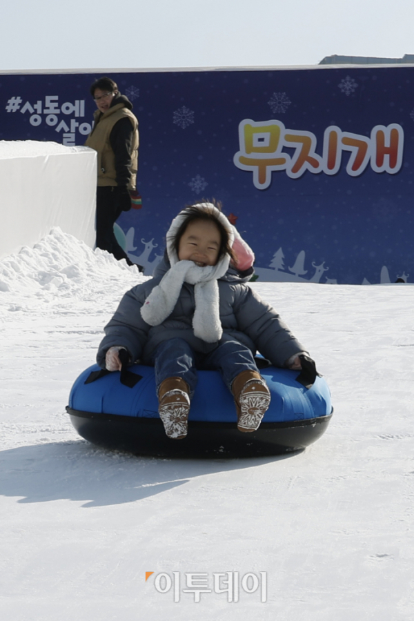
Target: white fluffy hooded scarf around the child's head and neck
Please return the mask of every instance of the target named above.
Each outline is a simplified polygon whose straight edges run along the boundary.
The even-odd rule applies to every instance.
[[[232,246],[234,241],[233,227],[226,216],[211,203],[200,203],[197,207],[213,211],[217,219],[226,228],[230,246]],[[193,284],[195,295],[194,334],[207,343],[215,343],[221,339],[223,334],[219,315],[217,279],[224,276],[228,270],[230,257],[226,254],[221,257],[217,265],[205,267],[199,267],[193,261],[180,261],[173,248],[173,242],[186,217],[186,210],[183,210],[172,220],[167,233],[167,254],[171,267],[159,285],[153,288],[148,295],[144,306],[141,307],[141,316],[144,322],[150,326],[159,326],[172,313],[184,282]]]

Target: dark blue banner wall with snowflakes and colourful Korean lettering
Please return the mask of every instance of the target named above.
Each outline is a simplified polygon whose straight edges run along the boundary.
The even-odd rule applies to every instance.
[[[102,75],[139,120],[117,235],[147,275],[179,209],[215,198],[260,280],[414,279],[413,65],[0,72],[0,139],[84,144]]]

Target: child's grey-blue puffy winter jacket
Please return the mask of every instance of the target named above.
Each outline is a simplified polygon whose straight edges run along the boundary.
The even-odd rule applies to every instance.
[[[105,326],[106,336],[97,353],[97,363],[105,368],[105,355],[112,346],[124,346],[130,359],[151,364],[151,357],[159,343],[179,337],[185,339],[194,351],[208,353],[226,339],[237,339],[253,354],[259,351],[275,366],[284,366],[287,359],[302,353],[304,347],[290,332],[288,326],[272,306],[264,302],[250,288],[239,272],[229,268],[219,279],[219,313],[223,336],[217,343],[206,343],[195,336],[192,319],[195,310],[194,286],[184,283],[179,300],[171,315],[159,326],[150,326],[141,317],[140,308],[152,289],[159,284],[169,264],[164,259],[157,267],[155,277],[128,291]]]

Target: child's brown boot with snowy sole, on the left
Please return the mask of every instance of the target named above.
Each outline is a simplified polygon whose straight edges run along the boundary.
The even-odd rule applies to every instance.
[[[187,435],[190,389],[181,377],[167,377],[158,391],[159,417],[168,437],[182,440]]]

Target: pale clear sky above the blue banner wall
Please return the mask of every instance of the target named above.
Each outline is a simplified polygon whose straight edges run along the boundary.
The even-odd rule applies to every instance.
[[[333,54],[414,53],[412,0],[124,0],[118,6],[112,0],[3,3],[0,70],[297,66]]]

